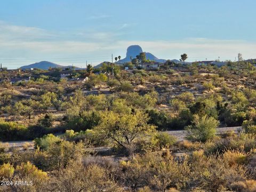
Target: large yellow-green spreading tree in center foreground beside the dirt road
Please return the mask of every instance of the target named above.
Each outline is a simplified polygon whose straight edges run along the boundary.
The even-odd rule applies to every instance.
[[[131,158],[135,150],[135,143],[143,136],[155,131],[156,127],[147,124],[147,114],[140,110],[134,114],[114,113],[106,111],[102,113],[101,121],[94,131],[103,138],[108,138],[124,147]]]

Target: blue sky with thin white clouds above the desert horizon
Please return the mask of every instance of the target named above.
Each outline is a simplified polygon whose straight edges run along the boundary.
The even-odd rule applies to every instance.
[[[9,0],[0,3],[0,62],[85,66],[125,57],[127,46],[162,59],[256,58],[256,1]]]

